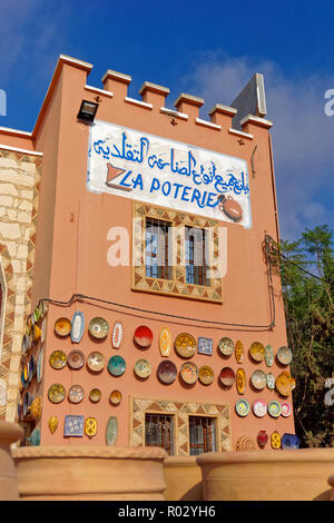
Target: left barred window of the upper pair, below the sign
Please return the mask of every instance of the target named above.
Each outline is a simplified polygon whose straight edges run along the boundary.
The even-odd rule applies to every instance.
[[[169,249],[171,224],[169,221],[146,218],[145,224],[145,265],[149,278],[171,279]]]

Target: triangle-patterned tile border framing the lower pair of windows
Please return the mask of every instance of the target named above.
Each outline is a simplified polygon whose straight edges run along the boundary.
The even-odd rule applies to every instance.
[[[189,416],[212,416],[217,420],[218,452],[232,451],[229,406],[170,399],[130,398],[130,445],[145,446],[145,414],[174,415],[175,454],[189,455]]]

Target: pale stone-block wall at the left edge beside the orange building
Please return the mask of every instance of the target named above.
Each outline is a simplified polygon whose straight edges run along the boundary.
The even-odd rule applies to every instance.
[[[31,287],[41,158],[0,148],[0,420],[18,418],[21,342]]]

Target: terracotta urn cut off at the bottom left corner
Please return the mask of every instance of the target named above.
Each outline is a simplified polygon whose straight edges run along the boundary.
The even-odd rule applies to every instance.
[[[18,481],[10,445],[23,436],[23,430],[14,423],[0,421],[0,500],[19,500]]]

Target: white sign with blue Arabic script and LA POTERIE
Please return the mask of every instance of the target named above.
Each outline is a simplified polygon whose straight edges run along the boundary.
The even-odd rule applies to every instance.
[[[90,127],[87,186],[252,226],[245,160],[106,121]]]

